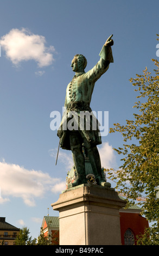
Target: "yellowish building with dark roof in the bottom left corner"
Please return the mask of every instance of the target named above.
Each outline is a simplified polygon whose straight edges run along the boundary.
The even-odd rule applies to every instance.
[[[20,229],[5,221],[5,217],[0,217],[0,245],[15,245],[15,239]]]

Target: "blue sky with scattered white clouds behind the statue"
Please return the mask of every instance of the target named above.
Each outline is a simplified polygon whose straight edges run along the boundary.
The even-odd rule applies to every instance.
[[[65,188],[71,152],[60,149],[50,129],[50,113],[59,111],[72,80],[71,61],[87,58],[86,71],[99,60],[113,34],[114,63],[97,81],[94,111],[109,111],[109,128],[133,117],[136,93],[129,82],[154,68],[158,1],[5,0],[0,15],[0,212],[16,227],[27,226],[37,237],[44,215],[58,216],[50,206]],[[118,168],[112,148],[119,134],[102,137],[102,165]],[[112,187],[115,184],[112,183]]]

